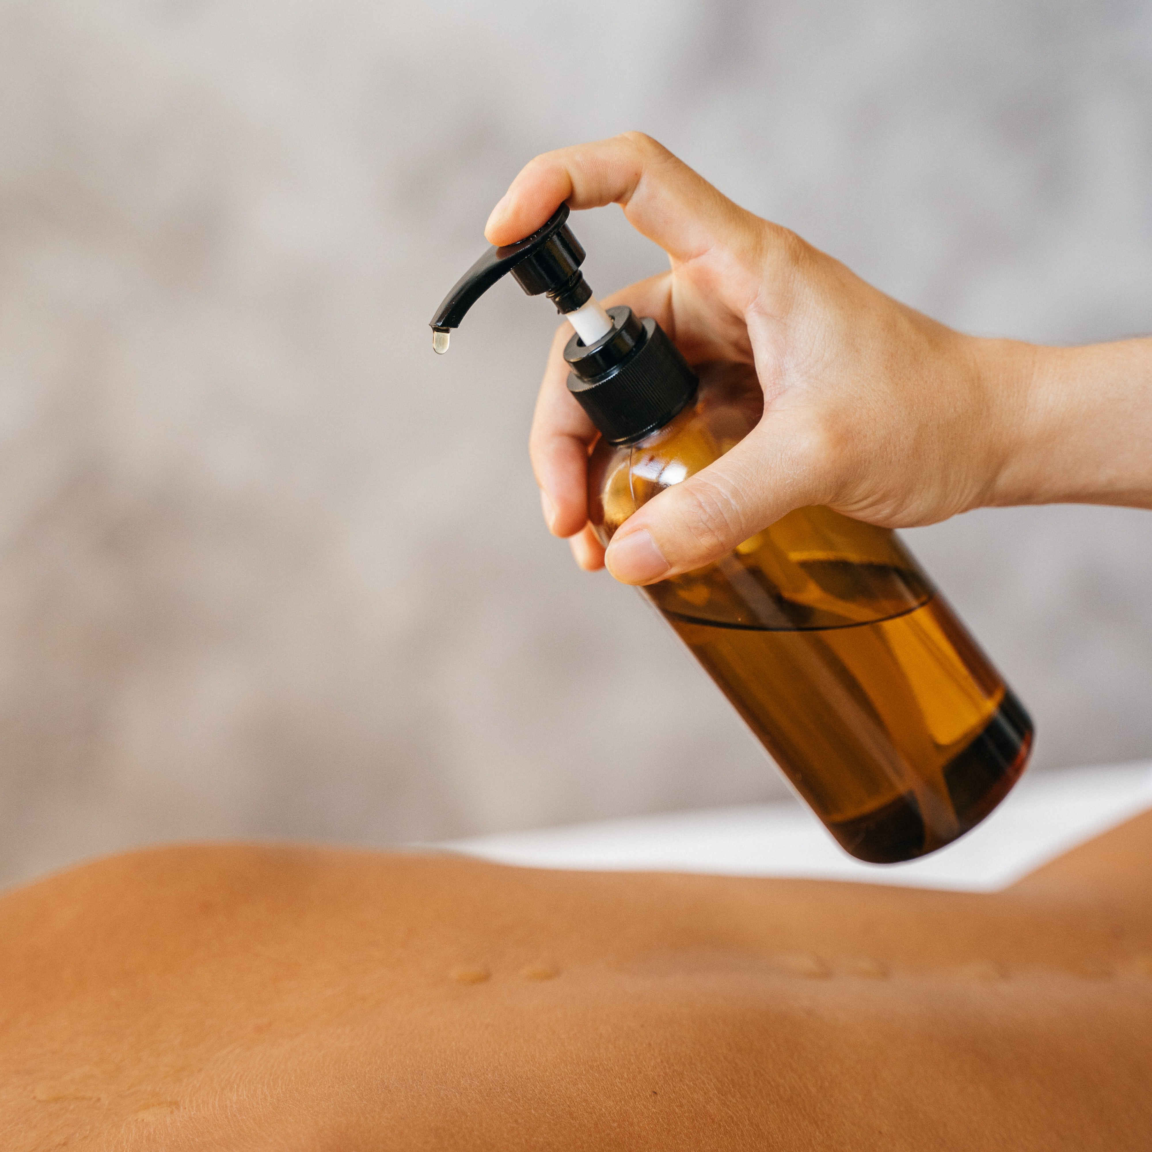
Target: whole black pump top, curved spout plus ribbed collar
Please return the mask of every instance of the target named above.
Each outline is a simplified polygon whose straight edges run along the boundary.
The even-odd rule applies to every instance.
[[[562,314],[591,303],[604,319],[579,271],[584,249],[567,220],[568,205],[561,204],[543,228],[515,244],[490,248],[461,276],[432,318],[438,353],[448,350],[449,331],[508,272],[529,296],[546,294]],[[608,309],[606,319],[611,329],[592,343],[578,335],[568,341],[568,391],[609,444],[624,444],[667,424],[696,394],[698,380],[651,317],[639,320],[620,305]]]

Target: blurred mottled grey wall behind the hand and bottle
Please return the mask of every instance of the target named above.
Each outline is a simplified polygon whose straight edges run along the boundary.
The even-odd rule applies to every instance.
[[[521,165],[629,128],[965,331],[1152,327],[1147,3],[0,0],[0,879],[785,794],[543,528],[551,309],[430,347]],[[1152,515],[907,535],[1037,768],[1152,755]]]

